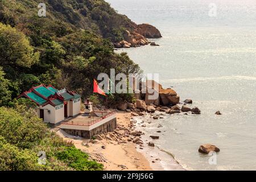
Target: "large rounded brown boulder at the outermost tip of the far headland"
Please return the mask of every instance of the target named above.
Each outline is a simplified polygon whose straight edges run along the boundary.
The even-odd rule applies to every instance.
[[[138,24],[138,28],[135,32],[143,35],[145,38],[162,38],[160,31],[156,27],[146,23]]]

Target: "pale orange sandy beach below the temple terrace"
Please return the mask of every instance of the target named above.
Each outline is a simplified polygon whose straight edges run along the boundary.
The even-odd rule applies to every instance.
[[[119,126],[130,126],[131,114],[119,111],[117,123]],[[91,156],[92,159],[104,164],[106,171],[151,171],[150,163],[146,157],[137,151],[137,145],[133,142],[118,142],[115,140],[71,139],[57,132],[64,140],[72,141],[75,146]]]

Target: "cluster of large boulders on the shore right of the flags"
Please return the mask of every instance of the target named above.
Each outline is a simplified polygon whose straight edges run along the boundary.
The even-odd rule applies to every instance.
[[[191,99],[185,100],[181,107],[178,106],[177,104],[181,104],[180,97],[171,88],[164,89],[162,85],[152,80],[142,82],[141,85],[141,89],[137,90],[135,93],[136,102],[120,102],[117,105],[117,109],[127,111],[129,113],[131,112],[135,116],[146,115],[146,112],[154,113],[155,111],[162,111],[167,114],[176,114],[181,112],[201,114],[198,107],[191,108],[188,106],[189,104],[192,104]],[[155,93],[152,93],[152,90]],[[156,94],[156,97],[151,99],[153,94]]]

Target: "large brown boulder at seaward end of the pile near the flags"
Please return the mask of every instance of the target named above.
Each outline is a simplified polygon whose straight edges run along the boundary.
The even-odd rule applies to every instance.
[[[180,97],[173,89],[160,89],[160,101],[163,105],[176,105],[180,102]]]

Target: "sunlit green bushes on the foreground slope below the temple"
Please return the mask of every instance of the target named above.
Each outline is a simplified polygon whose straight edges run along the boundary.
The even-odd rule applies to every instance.
[[[38,163],[39,151],[46,164]],[[0,170],[102,170],[102,164],[49,131],[25,105],[0,107]]]

